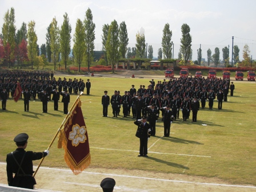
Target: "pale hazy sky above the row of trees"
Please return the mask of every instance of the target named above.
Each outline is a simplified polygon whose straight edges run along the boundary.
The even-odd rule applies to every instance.
[[[256,58],[255,0],[1,0],[1,31],[4,14],[11,7],[15,10],[17,30],[21,28],[22,22],[35,21],[39,46],[46,43],[46,29],[54,17],[61,27],[66,12],[73,35],[77,19],[83,21],[85,12],[90,7],[96,25],[95,50],[102,50],[102,26],[115,19],[118,24],[125,21],[130,47],[135,46],[135,35],[143,28],[147,45],[153,46],[154,57],[157,57],[161,47],[162,30],[166,23],[169,23],[170,30],[173,31],[174,58],[178,57],[181,26],[187,23],[192,35],[193,60],[197,59],[200,44],[203,58],[206,58],[208,49],[213,53],[215,47],[219,47],[222,59],[222,48],[225,46],[230,46],[231,57],[232,36],[234,45],[238,45],[240,49],[240,59],[245,43],[249,45],[253,59]],[[71,42],[73,46],[73,40]]]

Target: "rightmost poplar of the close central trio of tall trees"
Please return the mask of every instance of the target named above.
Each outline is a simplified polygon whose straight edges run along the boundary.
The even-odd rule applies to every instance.
[[[129,42],[129,38],[127,34],[127,29],[126,29],[125,22],[123,21],[122,23],[120,23],[120,26],[119,26],[119,51],[120,51],[121,58],[125,58],[128,42]]]

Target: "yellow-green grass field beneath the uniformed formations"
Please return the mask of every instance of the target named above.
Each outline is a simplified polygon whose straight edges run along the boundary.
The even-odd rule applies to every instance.
[[[87,77],[83,79],[86,81]],[[158,80],[162,78],[155,78]],[[111,118],[111,107],[109,118],[103,118],[101,96],[104,90],[109,95],[114,90],[123,94],[132,84],[138,89],[139,85],[147,85],[149,79],[91,77],[90,81],[91,95],[81,97],[89,134],[90,167],[216,177],[233,184],[256,186],[255,82],[235,82],[234,97],[223,102],[223,110],[217,110],[215,101],[214,110],[198,111],[197,123],[178,119],[171,125],[170,138],[162,137],[163,123],[158,121],[157,137],[151,137],[148,143],[149,158],[138,158],[134,119]],[[76,98],[77,95],[71,95],[69,107]],[[59,111],[54,111],[50,101],[47,114],[42,113],[38,99],[30,102],[29,112],[24,112],[23,100],[7,101],[6,109],[0,110],[0,161],[3,162],[6,154],[15,149],[15,135],[29,134],[27,150],[45,150],[65,118],[61,102]],[[63,150],[57,149],[57,140],[43,166],[67,167]]]

